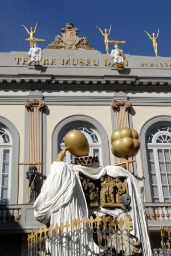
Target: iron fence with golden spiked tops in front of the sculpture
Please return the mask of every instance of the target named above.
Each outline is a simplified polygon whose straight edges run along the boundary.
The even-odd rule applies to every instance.
[[[45,256],[47,255],[48,249],[56,250],[55,253],[51,252],[51,256],[61,256],[61,255],[89,255],[87,254],[88,240],[83,239],[82,235],[89,235],[91,237],[92,243],[96,243],[99,248],[98,253],[91,248],[91,255],[117,255],[117,239],[124,241],[126,236],[128,239],[129,246],[127,248],[127,255],[132,255],[131,252],[131,234],[132,221],[128,218],[123,221],[123,219],[117,219],[117,217],[111,216],[91,216],[89,218],[84,217],[82,220],[80,218],[73,219],[71,223],[61,222],[60,225],[56,226],[50,225],[49,227],[44,226],[32,231],[28,234],[28,256]],[[113,246],[112,239],[116,238],[116,243]],[[79,248],[81,243],[81,249]],[[87,238],[86,238],[87,239]],[[69,241],[69,242],[68,242]],[[83,242],[84,241],[84,242]],[[86,241],[86,242],[85,242]],[[168,256],[171,254],[170,251],[170,227],[167,229],[161,226],[161,247],[152,250],[152,255],[164,255]],[[70,243],[70,247],[68,246]],[[124,246],[124,242],[123,245]],[[72,248],[71,248],[72,247]],[[84,253],[80,254],[79,250],[84,247]],[[57,249],[56,249],[57,248]],[[85,249],[86,248],[86,249]],[[103,249],[104,254],[101,254],[101,249]],[[68,251],[67,251],[68,250]],[[124,249],[119,255],[125,255]],[[62,254],[61,254],[62,251]]]

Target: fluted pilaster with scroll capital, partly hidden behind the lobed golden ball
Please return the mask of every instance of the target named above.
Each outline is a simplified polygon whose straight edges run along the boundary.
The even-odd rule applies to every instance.
[[[129,125],[129,112],[131,110],[131,101],[113,101],[112,102],[112,109],[115,112],[116,117],[116,129],[121,129],[123,127],[130,128]],[[132,160],[132,158],[129,158],[129,160]],[[124,158],[120,158],[120,162],[124,162]],[[133,165],[132,163],[129,164],[129,171],[133,173]]]

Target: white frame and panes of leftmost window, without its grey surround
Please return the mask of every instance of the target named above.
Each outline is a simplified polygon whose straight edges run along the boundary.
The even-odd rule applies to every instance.
[[[6,205],[10,198],[12,138],[7,129],[0,126],[0,204]]]

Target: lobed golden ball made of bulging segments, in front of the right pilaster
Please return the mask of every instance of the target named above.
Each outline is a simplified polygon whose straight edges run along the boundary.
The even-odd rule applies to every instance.
[[[113,131],[111,136],[112,154],[116,157],[133,157],[140,149],[139,134],[130,128]]]

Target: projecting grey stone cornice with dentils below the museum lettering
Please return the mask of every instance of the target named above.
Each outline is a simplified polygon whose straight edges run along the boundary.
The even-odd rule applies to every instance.
[[[123,76],[54,76],[54,75],[0,75],[0,86],[39,86],[44,85],[97,85],[97,86],[131,86],[137,89],[137,86],[150,87],[170,86],[170,77],[133,77]]]

